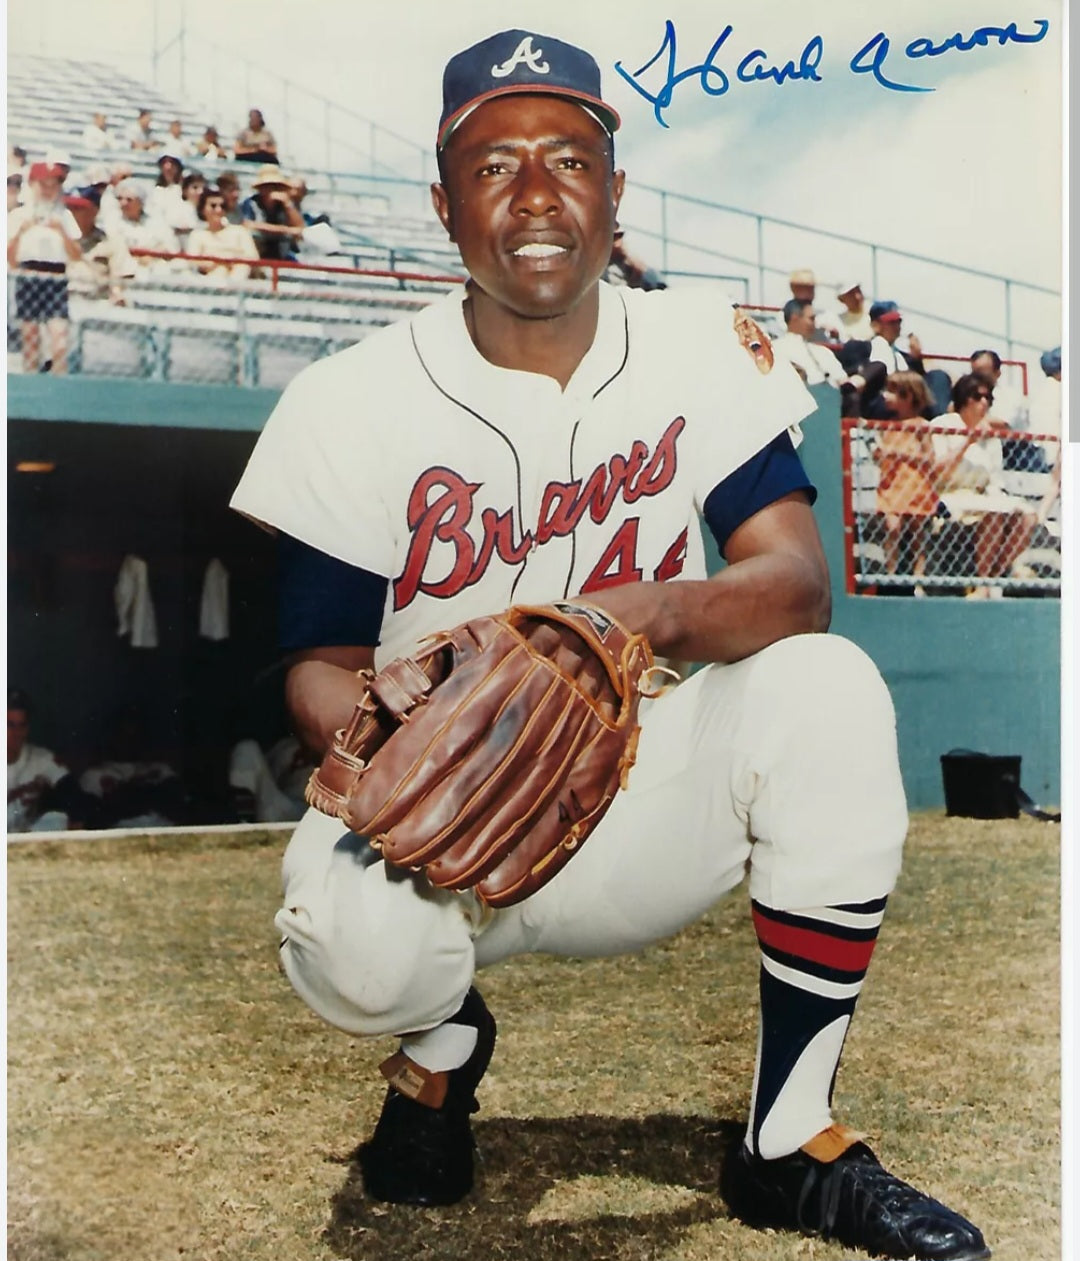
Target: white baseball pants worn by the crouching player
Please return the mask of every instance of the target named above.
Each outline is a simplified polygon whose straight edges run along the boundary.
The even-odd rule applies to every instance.
[[[641,706],[628,788],[550,884],[491,912],[377,859],[308,811],[275,923],[294,989],[353,1034],[402,1034],[461,1006],[511,955],[636,951],[738,885],[785,910],[864,902],[900,873],[907,810],[892,701],[860,648],[795,636],[707,666]]]

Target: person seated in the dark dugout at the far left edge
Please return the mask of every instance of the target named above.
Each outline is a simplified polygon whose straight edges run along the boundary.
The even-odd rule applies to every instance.
[[[43,832],[82,827],[86,799],[68,768],[29,743],[30,701],[8,691],[8,831]]]

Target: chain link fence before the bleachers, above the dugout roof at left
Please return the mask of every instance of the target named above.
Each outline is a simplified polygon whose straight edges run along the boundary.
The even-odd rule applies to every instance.
[[[9,371],[280,390],[308,363],[453,284],[437,274],[265,261],[222,282],[201,276],[192,257],[153,255],[136,270],[145,275],[10,272]]]

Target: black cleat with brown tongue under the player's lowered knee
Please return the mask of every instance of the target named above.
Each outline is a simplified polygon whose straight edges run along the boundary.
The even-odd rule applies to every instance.
[[[476,1088],[495,1050],[495,1018],[476,989],[450,1023],[472,1025],[472,1055],[447,1073],[429,1073],[406,1055],[391,1055],[390,1079],[375,1134],[360,1149],[363,1189],[390,1204],[455,1204],[472,1190],[476,1141],[469,1116]]]

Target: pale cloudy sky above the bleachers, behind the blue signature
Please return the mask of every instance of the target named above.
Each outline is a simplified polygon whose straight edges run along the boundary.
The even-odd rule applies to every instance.
[[[91,11],[93,28],[87,29]],[[299,88],[307,87],[428,145],[447,58],[493,30],[534,29],[536,11],[534,4],[514,0],[97,0],[92,10],[86,0],[13,0],[9,40],[13,49],[126,58],[145,77],[155,34],[163,48],[184,29],[187,82],[208,74],[213,64],[235,83],[250,83],[271,126],[284,100],[280,82],[245,69],[244,58],[290,79],[294,106],[303,100]],[[949,37],[969,39],[979,28],[1009,23],[1018,34],[1035,34],[1037,19],[1050,23],[1038,43],[1002,45],[993,39],[934,57],[905,53],[913,39],[941,48]],[[679,83],[665,129],[613,67],[622,62],[633,72],[649,62],[661,48],[667,20],[680,71],[700,66],[727,25],[732,33],[714,59],[731,81],[728,92],[708,95],[700,74]],[[606,96],[623,119],[617,154],[632,184],[670,187],[1060,289],[1061,0],[667,0],[635,6],[549,0],[540,21],[541,33],[578,43],[599,61]],[[852,58],[879,33],[889,43],[882,74],[934,91],[888,90],[873,74],[850,69]],[[768,55],[767,64],[790,59],[797,66],[814,37],[821,42],[813,67],[820,82],[737,81],[739,61],[753,49]],[[178,44],[164,53],[161,66],[175,81]],[[654,95],[662,83],[660,71],[657,62],[640,79]],[[203,87],[202,95],[209,90]],[[307,105],[318,108],[314,101]],[[659,227],[657,206],[655,198],[631,194],[627,223],[636,216],[642,228]],[[731,217],[680,213],[680,227],[718,240],[741,240],[744,232]],[[782,233],[772,245],[782,266],[816,266],[826,282],[852,266],[867,270],[864,251],[829,251],[818,241],[818,257],[800,257],[799,241],[789,246]],[[896,275],[893,284],[902,279]],[[925,282],[921,275],[919,280]],[[984,305],[988,296],[977,289],[973,300]],[[1052,335],[1056,310],[1052,301],[1035,306],[1022,309],[1019,318],[1040,342]]]

